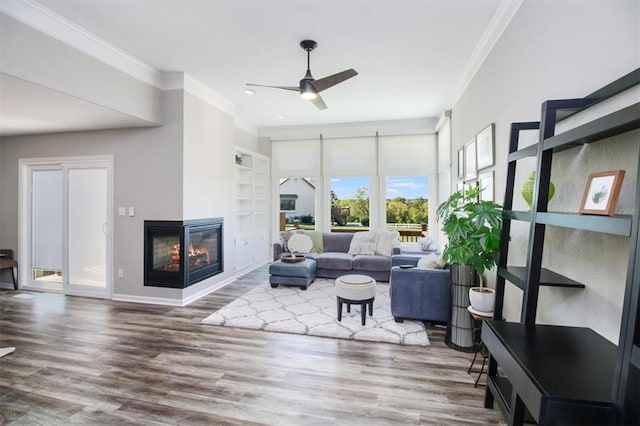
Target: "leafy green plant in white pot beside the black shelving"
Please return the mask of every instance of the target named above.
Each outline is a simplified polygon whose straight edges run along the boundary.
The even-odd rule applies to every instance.
[[[436,217],[448,238],[442,259],[451,265],[452,284],[471,287],[472,307],[492,312],[495,293],[484,287],[483,274],[498,262],[502,206],[480,200],[480,191],[474,187],[454,192],[438,207]]]

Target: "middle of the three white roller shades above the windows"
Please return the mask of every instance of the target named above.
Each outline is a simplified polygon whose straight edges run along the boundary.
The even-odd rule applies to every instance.
[[[375,176],[376,139],[344,138],[323,141],[325,176]]]

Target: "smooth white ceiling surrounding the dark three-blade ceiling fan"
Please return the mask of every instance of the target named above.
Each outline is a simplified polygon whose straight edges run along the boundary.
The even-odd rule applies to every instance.
[[[158,71],[185,72],[233,104],[238,121],[272,127],[440,116],[472,74],[478,52],[495,41],[490,33],[499,31],[496,20],[509,2],[38,3]],[[248,82],[297,85],[306,70],[306,53],[299,42],[308,38],[318,42],[311,53],[315,78],[348,68],[359,73],[322,93],[328,109],[316,109],[295,92],[255,88],[253,96],[244,93]],[[64,104],[61,101],[60,108]],[[279,118],[281,114],[286,118]],[[92,120],[81,118],[85,127]],[[3,117],[4,128],[10,119]]]

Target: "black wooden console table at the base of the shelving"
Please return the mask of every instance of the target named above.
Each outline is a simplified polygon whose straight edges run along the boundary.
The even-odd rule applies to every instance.
[[[489,370],[485,407],[495,397],[510,425],[527,411],[540,425],[612,421],[617,347],[593,330],[484,321],[482,341],[504,372]]]

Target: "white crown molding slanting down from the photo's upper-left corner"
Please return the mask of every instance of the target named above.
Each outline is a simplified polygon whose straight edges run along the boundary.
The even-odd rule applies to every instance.
[[[161,73],[153,66],[107,43],[35,1],[0,1],[0,12],[147,84],[157,88],[162,84]]]

